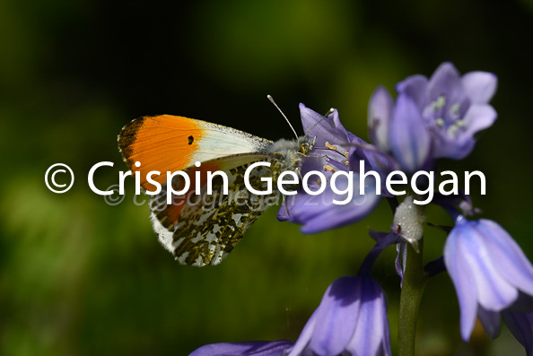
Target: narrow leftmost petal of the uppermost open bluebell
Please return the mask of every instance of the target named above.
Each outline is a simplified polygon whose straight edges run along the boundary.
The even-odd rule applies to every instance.
[[[371,96],[368,105],[368,127],[371,142],[382,152],[389,152],[389,125],[394,104],[389,91],[378,87]]]

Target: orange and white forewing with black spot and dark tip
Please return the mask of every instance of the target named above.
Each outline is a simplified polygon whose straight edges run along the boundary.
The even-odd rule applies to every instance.
[[[188,117],[159,115],[139,117],[122,128],[118,147],[127,166],[141,173],[141,185],[153,191],[146,181],[148,172],[176,171],[195,161],[247,152],[264,152],[272,142],[231,127]],[[141,163],[140,167],[135,162]],[[164,174],[153,177],[162,184]]]

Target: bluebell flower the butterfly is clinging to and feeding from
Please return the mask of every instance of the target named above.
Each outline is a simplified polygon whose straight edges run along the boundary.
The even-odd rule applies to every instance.
[[[373,178],[367,179],[369,187],[365,187],[365,195],[356,190],[359,187],[359,162],[364,161],[366,170],[384,170],[389,161],[377,150],[369,149],[368,143],[348,132],[336,110],[324,118],[300,104],[300,112],[304,132],[316,137],[315,149],[304,160],[301,174],[305,176],[310,171],[320,171],[327,182],[310,179],[308,186],[314,191],[319,190],[320,184],[327,187],[320,195],[309,195],[300,189],[297,195],[286,196],[285,204],[278,211],[278,219],[300,223],[303,233],[333,229],[363,219],[380,202],[380,195],[376,194],[375,184],[372,186],[372,182],[375,183]],[[337,194],[328,184],[335,171],[353,172],[352,181],[344,176],[336,179],[336,187],[340,191],[349,184],[354,187],[351,199],[347,194]],[[349,199],[347,204],[333,203],[334,200],[344,202],[346,199]]]

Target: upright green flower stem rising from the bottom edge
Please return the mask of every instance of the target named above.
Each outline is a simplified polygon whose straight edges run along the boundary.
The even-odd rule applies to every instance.
[[[420,253],[407,244],[406,271],[400,294],[398,318],[398,355],[415,355],[416,318],[427,276],[422,265],[424,239],[418,241]]]

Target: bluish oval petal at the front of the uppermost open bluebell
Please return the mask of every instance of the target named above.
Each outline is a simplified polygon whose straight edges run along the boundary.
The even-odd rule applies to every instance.
[[[421,169],[430,156],[431,135],[410,97],[398,96],[389,134],[390,148],[402,168],[410,173]]]

